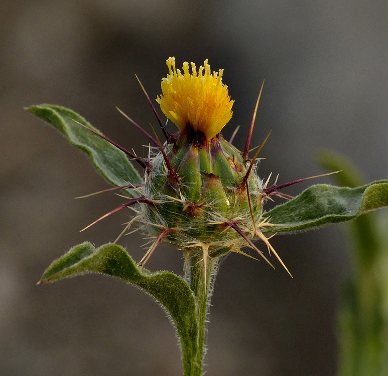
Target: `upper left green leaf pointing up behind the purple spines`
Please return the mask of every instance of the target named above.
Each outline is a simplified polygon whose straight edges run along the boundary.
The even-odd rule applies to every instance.
[[[132,184],[143,182],[125,153],[73,121],[76,120],[102,134],[76,112],[50,104],[32,106],[27,110],[58,129],[72,145],[88,154],[97,171],[111,184],[123,186],[128,182]],[[139,196],[134,190],[125,191],[131,197]]]

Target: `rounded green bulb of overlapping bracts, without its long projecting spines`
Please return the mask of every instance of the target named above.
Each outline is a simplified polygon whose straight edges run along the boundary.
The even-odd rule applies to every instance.
[[[265,195],[255,173],[245,182],[240,152],[220,134],[196,142],[184,136],[166,151],[172,170],[160,152],[146,176],[144,195],[154,205],[142,204],[145,232],[157,236],[169,231],[164,240],[171,245],[194,253],[206,248],[212,257],[244,246],[246,241],[230,224],[238,222],[251,237],[252,216],[258,228]]]

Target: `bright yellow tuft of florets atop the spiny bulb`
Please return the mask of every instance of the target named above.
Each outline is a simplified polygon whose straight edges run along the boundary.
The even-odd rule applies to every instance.
[[[167,60],[170,73],[162,79],[162,95],[156,100],[163,113],[181,133],[193,129],[206,139],[213,138],[232,117],[233,100],[228,87],[222,83],[223,69],[210,72],[205,60],[198,74],[194,63],[183,63],[183,74],[175,68],[175,58]]]

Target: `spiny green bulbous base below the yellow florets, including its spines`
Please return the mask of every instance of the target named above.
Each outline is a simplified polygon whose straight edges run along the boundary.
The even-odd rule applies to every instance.
[[[227,142],[221,133],[208,140],[189,129],[178,140],[165,146],[160,143],[158,136],[156,138],[159,152],[151,157],[150,148],[148,160],[139,158],[146,170],[145,184],[128,184],[111,189],[133,187],[139,197],[107,213],[88,227],[110,214],[132,207],[136,215],[121,235],[130,227],[138,226],[137,230],[151,239],[151,246],[140,261],[140,266],[146,264],[161,242],[182,250],[185,265],[191,255],[198,254],[202,255],[205,265],[209,257],[217,258],[227,252],[249,256],[241,251],[241,248],[249,247],[272,266],[252,243],[252,239],[258,238],[285,267],[261,232],[263,227],[273,226],[262,217],[263,203],[278,193],[276,186],[267,189],[268,181],[263,184],[256,175],[258,153],[253,160],[244,160],[242,153]]]

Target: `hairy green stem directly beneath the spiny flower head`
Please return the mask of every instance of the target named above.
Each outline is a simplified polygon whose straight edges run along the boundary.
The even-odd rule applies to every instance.
[[[206,270],[205,270],[206,266]],[[188,283],[196,298],[196,331],[190,343],[182,343],[184,376],[202,376],[206,322],[217,271],[217,261],[202,255],[190,258]]]

